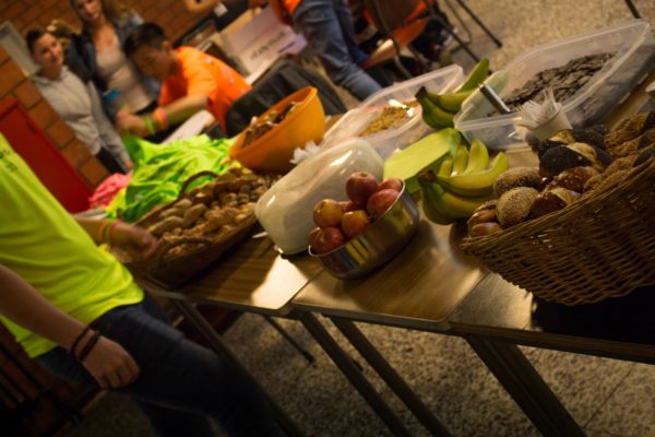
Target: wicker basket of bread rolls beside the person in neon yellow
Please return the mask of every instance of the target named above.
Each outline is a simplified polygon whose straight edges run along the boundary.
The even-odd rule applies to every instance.
[[[207,176],[210,182],[189,190]],[[257,223],[254,205],[274,179],[243,168],[219,176],[201,172],[184,182],[174,202],[135,223],[157,237],[155,256],[133,261],[116,255],[138,277],[167,288],[180,286],[248,235]]]

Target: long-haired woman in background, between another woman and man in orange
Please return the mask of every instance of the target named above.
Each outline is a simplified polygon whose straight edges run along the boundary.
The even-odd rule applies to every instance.
[[[121,46],[128,34],[143,23],[139,14],[115,0],[70,0],[82,22],[73,38],[68,64],[83,79],[93,80],[111,119],[121,108],[146,113],[156,106],[158,84],[139,73]]]

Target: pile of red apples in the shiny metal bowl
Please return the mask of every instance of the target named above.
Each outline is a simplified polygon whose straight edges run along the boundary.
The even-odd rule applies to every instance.
[[[326,253],[361,234],[396,201],[403,181],[378,181],[367,172],[357,172],[346,181],[348,200],[323,199],[313,209],[318,227],[309,233],[309,246],[317,255]]]

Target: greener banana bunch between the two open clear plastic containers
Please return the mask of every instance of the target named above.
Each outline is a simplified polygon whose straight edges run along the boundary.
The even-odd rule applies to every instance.
[[[468,73],[466,81],[454,93],[436,94],[421,86],[415,97],[422,109],[422,120],[431,128],[442,129],[453,126],[455,114],[464,101],[489,74],[489,60],[481,59]]]

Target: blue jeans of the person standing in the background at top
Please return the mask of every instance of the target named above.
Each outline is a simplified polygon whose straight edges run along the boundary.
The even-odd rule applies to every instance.
[[[367,56],[355,42],[345,0],[302,0],[294,11],[294,25],[336,84],[359,99],[380,90],[378,82],[359,68]]]

